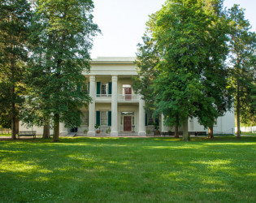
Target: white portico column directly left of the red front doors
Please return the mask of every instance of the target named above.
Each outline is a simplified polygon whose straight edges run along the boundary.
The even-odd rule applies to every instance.
[[[111,136],[118,136],[117,76],[112,76]]]

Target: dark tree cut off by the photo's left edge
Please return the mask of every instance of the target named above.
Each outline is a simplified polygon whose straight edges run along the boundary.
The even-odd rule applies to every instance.
[[[31,11],[26,0],[2,0],[0,11],[0,116],[7,123],[11,120],[11,138],[15,139],[24,102]]]

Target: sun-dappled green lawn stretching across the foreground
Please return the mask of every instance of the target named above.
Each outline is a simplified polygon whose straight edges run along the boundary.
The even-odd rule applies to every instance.
[[[0,141],[1,202],[255,202],[256,136]]]

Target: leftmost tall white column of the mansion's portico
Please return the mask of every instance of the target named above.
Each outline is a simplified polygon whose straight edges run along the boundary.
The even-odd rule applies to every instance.
[[[95,136],[95,76],[89,76],[89,96],[92,97],[92,103],[89,104],[89,129],[88,136]]]

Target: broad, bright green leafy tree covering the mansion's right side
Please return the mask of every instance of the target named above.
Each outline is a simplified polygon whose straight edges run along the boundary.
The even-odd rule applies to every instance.
[[[164,114],[176,132],[184,124],[184,140],[188,140],[189,117],[197,117],[212,132],[215,118],[231,107],[228,71],[223,63],[228,52],[225,22],[222,1],[170,0],[147,24],[154,49],[147,47],[148,41],[139,46],[137,61],[142,63],[137,66],[144,76],[138,79],[138,87],[148,89],[149,93],[141,93],[151,97],[155,114]],[[147,66],[152,58],[147,49],[158,53],[154,67],[148,66],[157,73],[154,77],[141,65]]]

